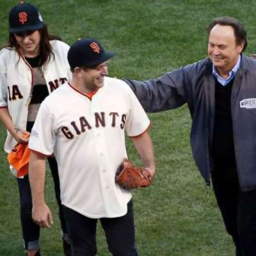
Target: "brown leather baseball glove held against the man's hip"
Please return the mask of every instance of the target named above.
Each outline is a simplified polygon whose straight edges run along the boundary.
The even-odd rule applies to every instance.
[[[152,175],[147,169],[137,168],[124,158],[116,172],[116,183],[125,189],[145,188],[152,184]]]

